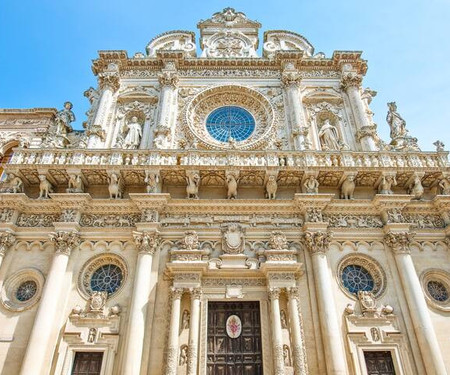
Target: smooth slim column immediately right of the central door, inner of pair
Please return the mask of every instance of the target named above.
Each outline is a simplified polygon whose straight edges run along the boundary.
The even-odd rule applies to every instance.
[[[270,309],[272,313],[272,340],[274,374],[284,375],[283,336],[280,316],[280,288],[270,288]]]

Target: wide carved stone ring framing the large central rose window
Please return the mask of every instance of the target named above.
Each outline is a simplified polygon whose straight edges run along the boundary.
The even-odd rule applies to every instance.
[[[209,88],[194,97],[186,106],[183,116],[186,134],[189,138],[195,139],[201,148],[231,148],[232,145],[214,139],[205,126],[206,118],[214,109],[229,105],[245,108],[256,122],[253,134],[248,139],[237,142],[237,148],[247,150],[264,148],[275,138],[278,118],[272,104],[258,91],[238,85]]]

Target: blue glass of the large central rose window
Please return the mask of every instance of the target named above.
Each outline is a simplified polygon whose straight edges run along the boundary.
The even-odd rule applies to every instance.
[[[255,130],[255,119],[241,107],[217,108],[206,119],[206,129],[219,142],[244,141]]]

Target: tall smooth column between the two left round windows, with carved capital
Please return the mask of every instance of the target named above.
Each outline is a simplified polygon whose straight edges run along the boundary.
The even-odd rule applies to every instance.
[[[64,287],[70,253],[78,247],[80,236],[76,231],[58,231],[50,233],[50,240],[55,243],[55,256],[42,291],[41,302],[22,362],[21,375],[48,374],[50,371],[53,348],[57,340],[55,325],[59,323],[63,311],[59,305],[61,302],[59,298]]]

